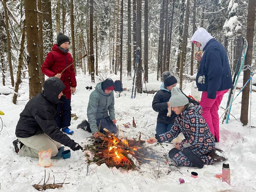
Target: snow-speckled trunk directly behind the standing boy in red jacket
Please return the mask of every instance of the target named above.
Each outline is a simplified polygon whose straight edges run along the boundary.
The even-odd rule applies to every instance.
[[[52,4],[51,0],[42,1],[43,18],[43,39],[44,39],[44,58],[52,50]],[[28,20],[27,20],[28,21]],[[28,29],[27,29],[28,30]]]

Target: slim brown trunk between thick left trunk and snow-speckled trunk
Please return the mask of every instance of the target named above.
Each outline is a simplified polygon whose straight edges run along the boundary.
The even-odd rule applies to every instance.
[[[39,27],[39,33],[38,33],[38,48],[39,48],[39,60],[40,63],[38,68],[41,69],[43,63],[44,63],[44,44],[43,44],[43,19],[42,19],[42,1],[38,1],[37,2],[37,7],[38,10],[40,10],[40,12],[38,12],[38,27]],[[41,70],[39,70],[40,73],[40,78],[41,78],[41,82],[42,84],[44,84],[44,74],[42,73]]]

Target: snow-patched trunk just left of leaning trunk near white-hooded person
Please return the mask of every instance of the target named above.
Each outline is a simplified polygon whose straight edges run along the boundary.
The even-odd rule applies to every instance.
[[[179,25],[179,35],[180,35],[180,39],[179,39],[179,50],[178,50],[178,58],[177,58],[177,68],[176,71],[179,72],[180,71],[180,62],[181,62],[181,53],[182,53],[182,42],[183,42],[183,26],[184,26],[184,11],[185,11],[185,0],[181,0],[180,3],[180,25]],[[180,75],[182,75],[180,73]]]

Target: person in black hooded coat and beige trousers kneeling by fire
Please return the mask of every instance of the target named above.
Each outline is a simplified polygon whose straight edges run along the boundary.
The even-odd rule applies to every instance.
[[[15,134],[19,142],[13,141],[16,153],[22,156],[38,157],[38,152],[52,148],[56,156],[61,144],[73,151],[83,150],[74,140],[60,131],[55,118],[57,106],[65,96],[65,85],[57,77],[50,77],[44,82],[44,90],[28,101],[20,113]]]

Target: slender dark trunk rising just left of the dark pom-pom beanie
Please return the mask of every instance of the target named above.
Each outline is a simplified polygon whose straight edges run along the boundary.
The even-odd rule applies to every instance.
[[[163,74],[163,41],[164,41],[164,6],[165,0],[163,0],[162,11],[160,14],[160,30],[159,30],[159,41],[158,41],[158,59],[157,59],[157,77],[156,80],[159,80],[159,76]]]

